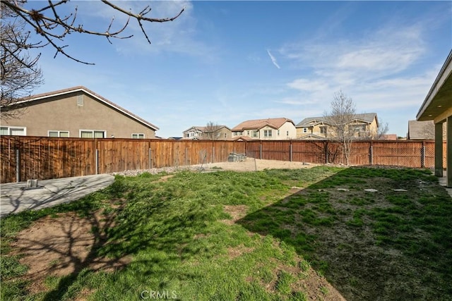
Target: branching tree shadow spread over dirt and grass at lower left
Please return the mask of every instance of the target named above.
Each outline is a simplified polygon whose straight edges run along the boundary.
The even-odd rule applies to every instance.
[[[16,242],[11,246],[13,252],[22,257],[20,261],[30,267],[23,276],[32,284],[28,287],[29,293],[39,293],[42,300],[72,299],[83,295],[84,290],[88,290],[86,294],[99,288],[108,290],[104,286],[116,284],[112,281],[119,270],[132,266],[131,269],[141,271],[141,278],[152,278],[155,276],[153,266],[169,266],[175,260],[201,252],[179,250],[192,239],[182,230],[189,230],[198,219],[173,216],[162,223],[143,226],[155,219],[155,215],[164,213],[165,206],[157,202],[158,197],[155,202],[148,199],[141,202],[136,191],[122,182],[117,179],[107,190],[71,204],[44,211],[25,211],[2,219],[6,223],[8,219],[24,223],[25,230],[14,235]],[[142,207],[134,210],[137,204]],[[132,261],[142,250],[153,250],[157,255]],[[167,255],[159,257],[159,254]],[[109,276],[96,278],[97,272]],[[53,285],[45,284],[49,276],[57,277]],[[175,276],[191,277],[189,274]],[[102,284],[95,279],[100,279]],[[165,283],[157,283],[154,289],[162,285]],[[124,289],[139,297],[136,286]]]

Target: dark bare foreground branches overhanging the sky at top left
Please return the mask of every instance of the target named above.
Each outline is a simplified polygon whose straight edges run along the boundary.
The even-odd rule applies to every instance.
[[[163,23],[175,20],[179,16],[181,16],[184,8],[179,11],[175,16],[171,18],[149,18],[148,14],[151,11],[150,6],[145,6],[141,11],[135,13],[131,10],[127,10],[121,6],[117,6],[113,4],[111,1],[101,0],[103,4],[111,7],[114,11],[117,11],[123,15],[128,17],[126,23],[122,24],[119,29],[112,29],[114,18],[112,17],[109,24],[105,25],[105,30],[93,30],[91,28],[85,28],[83,24],[77,24],[77,11],[75,8],[72,13],[67,16],[61,15],[61,11],[66,4],[69,3],[69,0],[59,0],[52,1],[36,1],[32,2],[33,6],[38,6],[32,9],[26,9],[24,7],[25,0],[2,0],[1,1],[1,10],[4,8],[8,8],[11,12],[13,12],[16,18],[23,20],[33,32],[40,36],[42,41],[31,43],[28,39],[18,40],[16,41],[15,47],[20,49],[31,49],[31,48],[39,48],[39,47],[53,47],[56,51],[55,56],[57,54],[63,54],[67,56],[69,59],[77,61],[79,63],[93,64],[88,63],[86,61],[82,61],[81,59],[76,59],[76,57],[72,56],[68,52],[66,52],[65,48],[68,45],[64,45],[64,39],[71,35],[72,33],[80,33],[85,35],[97,35],[100,37],[105,37],[108,39],[110,44],[112,43],[112,38],[116,39],[127,39],[132,37],[133,35],[123,35],[124,30],[129,26],[130,20],[136,20],[138,25],[141,28],[141,32],[143,32],[144,37],[150,43],[150,38],[148,34],[145,32],[143,27],[144,23]]]

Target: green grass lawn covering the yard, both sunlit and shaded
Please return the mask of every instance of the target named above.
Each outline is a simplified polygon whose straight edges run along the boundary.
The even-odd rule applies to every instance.
[[[72,211],[111,223],[93,224],[75,272],[36,292],[11,243]],[[130,262],[93,269],[99,257]],[[332,300],[324,283],[309,289],[312,269],[347,300],[452,300],[451,197],[419,169],[184,171],[117,176],[78,202],[1,219],[2,300]]]

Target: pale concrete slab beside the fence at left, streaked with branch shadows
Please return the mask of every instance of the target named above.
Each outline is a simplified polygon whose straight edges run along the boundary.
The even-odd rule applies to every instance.
[[[37,188],[27,188],[27,182],[1,184],[0,217],[23,210],[37,210],[73,202],[106,188],[113,181],[114,176],[102,174],[38,180]]]

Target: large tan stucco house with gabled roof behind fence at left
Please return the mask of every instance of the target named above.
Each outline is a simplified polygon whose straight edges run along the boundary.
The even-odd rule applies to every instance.
[[[155,138],[158,128],[85,87],[37,94],[18,102],[17,118],[1,119],[1,135]]]

